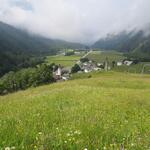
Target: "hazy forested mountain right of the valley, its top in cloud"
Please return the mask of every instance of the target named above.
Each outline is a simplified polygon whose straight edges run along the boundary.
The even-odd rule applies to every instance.
[[[119,34],[109,34],[98,40],[93,48],[118,50],[138,59],[150,59],[150,36],[144,31],[123,31]]]

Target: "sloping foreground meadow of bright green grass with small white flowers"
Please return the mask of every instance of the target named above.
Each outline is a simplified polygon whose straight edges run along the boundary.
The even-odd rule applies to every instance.
[[[150,76],[91,76],[0,97],[0,149],[150,149]]]

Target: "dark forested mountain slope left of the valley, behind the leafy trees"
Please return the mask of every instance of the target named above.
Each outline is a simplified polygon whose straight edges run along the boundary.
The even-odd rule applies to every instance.
[[[11,70],[35,65],[41,62],[39,57],[55,54],[59,49],[83,47],[78,43],[31,35],[0,22],[0,76]]]

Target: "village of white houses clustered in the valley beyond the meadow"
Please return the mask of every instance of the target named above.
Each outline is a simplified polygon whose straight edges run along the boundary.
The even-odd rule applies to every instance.
[[[112,63],[109,62],[108,58],[106,57],[104,62],[96,62],[95,60],[89,59],[87,56],[92,53],[93,50],[89,50],[85,53],[84,56],[80,58],[80,60],[76,61],[74,66],[70,67],[63,67],[63,65],[59,64],[57,69],[53,71],[53,77],[56,81],[67,81],[71,77],[72,73],[90,73],[95,71],[109,71],[112,70],[115,66],[130,66],[134,62],[131,60],[122,60],[122,61],[113,61]],[[71,55],[78,55],[79,51],[69,52]],[[63,53],[64,56],[68,56],[68,54]],[[73,72],[72,69],[75,68]]]

